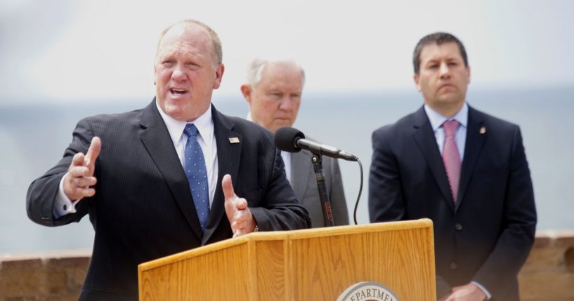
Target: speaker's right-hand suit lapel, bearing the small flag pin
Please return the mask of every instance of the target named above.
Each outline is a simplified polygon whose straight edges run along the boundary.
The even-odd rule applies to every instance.
[[[211,235],[214,234],[221,222],[221,218],[227,218],[224,206],[225,196],[223,196],[223,189],[221,189],[221,180],[223,180],[223,175],[231,175],[233,188],[235,188],[243,143],[242,135],[232,131],[235,126],[233,121],[219,113],[213,105],[211,105],[211,107],[211,116],[214,121],[214,134],[217,143],[218,175],[214,200],[211,203],[211,212],[209,213],[209,220],[207,220],[202,245],[207,243]],[[231,143],[229,138],[238,138],[239,142]]]

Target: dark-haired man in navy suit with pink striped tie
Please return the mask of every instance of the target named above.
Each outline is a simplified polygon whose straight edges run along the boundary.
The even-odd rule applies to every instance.
[[[424,106],[372,135],[370,220],[433,220],[442,300],[518,300],[536,225],[520,128],[467,105],[455,36],[425,36],[413,63]]]

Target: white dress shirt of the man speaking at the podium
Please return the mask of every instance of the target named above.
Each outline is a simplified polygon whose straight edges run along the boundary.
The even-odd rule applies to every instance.
[[[171,142],[174,143],[174,147],[176,149],[179,161],[181,162],[182,168],[184,162],[184,155],[185,155],[185,143],[188,141],[188,136],[183,133],[183,129],[188,123],[195,124],[197,128],[198,135],[197,135],[197,142],[199,142],[200,147],[202,148],[203,156],[206,163],[206,170],[207,170],[207,178],[208,178],[208,188],[209,188],[209,207],[214,201],[215,196],[215,187],[217,186],[217,176],[218,176],[218,163],[217,163],[217,144],[215,140],[214,134],[214,121],[211,117],[211,105],[209,109],[204,112],[201,116],[197,117],[197,119],[193,121],[178,121],[171,116],[165,114],[161,107],[155,103],[157,106],[157,110],[159,114],[164,119],[164,123],[167,126],[167,131],[169,131],[169,136],[171,138]],[[105,143],[103,141],[102,143]],[[67,175],[67,174],[66,174]],[[53,215],[54,218],[60,218],[63,215],[67,215],[70,213],[76,213],[76,204],[81,201],[70,200],[66,194],[64,193],[63,183],[64,178],[60,180],[60,189],[58,191],[58,195],[56,196],[56,202],[54,203],[53,208]],[[96,194],[98,192],[96,191]]]

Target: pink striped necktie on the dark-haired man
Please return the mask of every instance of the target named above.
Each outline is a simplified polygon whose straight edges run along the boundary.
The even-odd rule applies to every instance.
[[[457,202],[458,185],[460,181],[460,154],[458,152],[455,133],[460,123],[456,120],[445,121],[445,145],[443,147],[443,164],[445,165],[452,200]]]

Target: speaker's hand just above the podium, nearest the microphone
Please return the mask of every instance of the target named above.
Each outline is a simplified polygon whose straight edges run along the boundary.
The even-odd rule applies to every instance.
[[[255,229],[255,220],[253,219],[251,211],[247,208],[247,200],[235,194],[230,175],[223,176],[221,188],[223,188],[223,195],[226,198],[226,214],[231,225],[233,237],[253,232]]]

